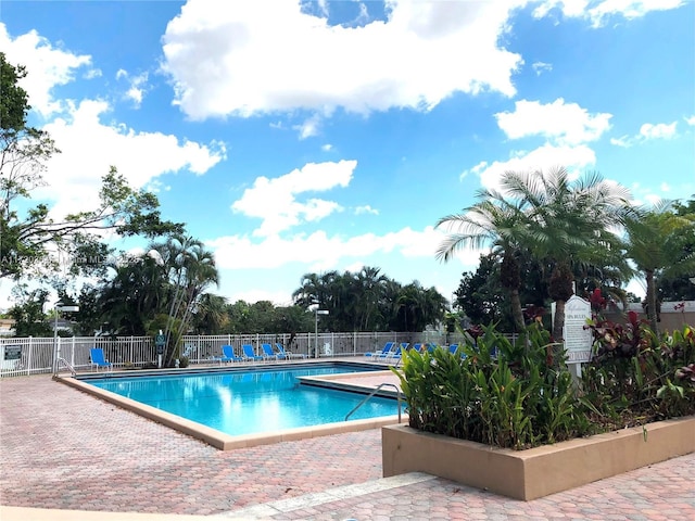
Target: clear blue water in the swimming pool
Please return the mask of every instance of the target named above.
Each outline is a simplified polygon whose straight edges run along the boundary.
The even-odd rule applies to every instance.
[[[328,366],[88,382],[227,434],[240,435],[343,421],[364,395],[300,385],[298,377],[355,370],[359,369]],[[350,419],[391,416],[397,411],[395,399],[374,396]]]

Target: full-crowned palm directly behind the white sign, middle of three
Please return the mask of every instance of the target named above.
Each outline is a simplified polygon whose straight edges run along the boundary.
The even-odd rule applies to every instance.
[[[565,303],[573,294],[572,263],[594,259],[618,250],[611,228],[629,214],[627,188],[590,173],[576,181],[565,168],[548,173],[508,171],[502,176],[505,193],[525,208],[528,224],[526,244],[534,256],[549,263],[548,293],[555,301],[553,336],[561,342]]]

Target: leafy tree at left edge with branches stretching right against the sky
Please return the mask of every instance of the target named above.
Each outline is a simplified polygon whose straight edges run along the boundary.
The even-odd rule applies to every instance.
[[[26,75],[25,67],[10,64],[0,52],[0,278],[55,269],[51,251],[71,258],[103,253],[99,231],[151,238],[180,232],[182,225],[161,219],[154,194],[130,188],[113,166],[102,178],[94,209],[53,220],[46,204],[30,206],[31,191],[46,186],[46,162],[60,151],[45,130],[27,124],[28,96],[18,86]],[[71,269],[81,267],[87,265],[74,263]]]

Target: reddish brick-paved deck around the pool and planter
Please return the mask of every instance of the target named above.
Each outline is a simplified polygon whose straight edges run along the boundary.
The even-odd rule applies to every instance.
[[[525,503],[382,479],[379,429],[223,452],[48,374],[0,380],[2,521],[695,519],[694,466],[691,454]]]

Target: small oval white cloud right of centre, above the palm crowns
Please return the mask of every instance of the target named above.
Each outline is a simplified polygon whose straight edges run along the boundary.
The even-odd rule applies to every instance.
[[[509,139],[542,136],[559,144],[595,141],[610,128],[607,113],[590,114],[577,103],[558,98],[553,103],[521,100],[514,112],[495,114],[497,125]]]

